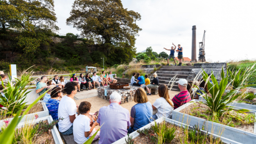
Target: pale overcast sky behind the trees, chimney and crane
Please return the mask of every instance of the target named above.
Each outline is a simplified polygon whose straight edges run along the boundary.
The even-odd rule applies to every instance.
[[[74,0],[55,0],[59,34],[80,34],[66,25]],[[128,11],[140,13],[137,25],[142,28],[136,37],[137,52],[152,47],[166,52],[174,43],[183,47],[183,57],[191,59],[192,26],[196,26],[196,48],[204,30],[206,61],[256,59],[256,1],[248,0],[122,0]],[[177,53],[175,53],[175,56]]]

